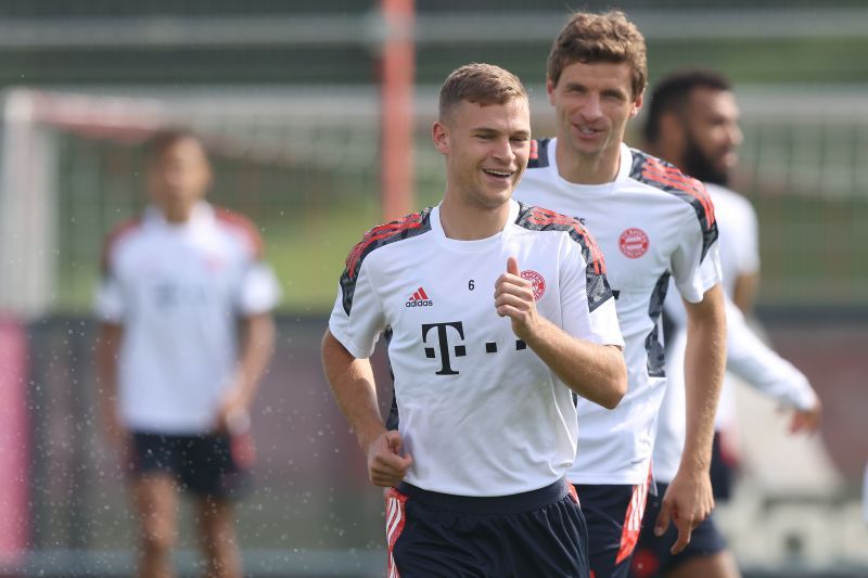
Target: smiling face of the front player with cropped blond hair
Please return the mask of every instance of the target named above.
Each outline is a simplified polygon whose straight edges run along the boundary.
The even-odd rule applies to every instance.
[[[482,209],[498,208],[515,189],[531,154],[527,100],[505,104],[462,101],[434,123],[434,144],[446,156],[450,193]]]

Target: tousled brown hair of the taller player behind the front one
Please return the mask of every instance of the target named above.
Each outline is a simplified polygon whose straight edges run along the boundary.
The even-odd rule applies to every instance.
[[[634,98],[648,84],[644,37],[620,10],[603,14],[576,12],[570,17],[549,52],[546,74],[553,86],[563,69],[574,62],[628,64]]]

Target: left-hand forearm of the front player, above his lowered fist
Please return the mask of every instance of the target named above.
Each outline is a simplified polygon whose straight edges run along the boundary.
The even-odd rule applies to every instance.
[[[359,446],[367,453],[370,445],[385,431],[371,363],[356,359],[327,331],[322,338],[322,367],[337,407],[356,433]]]

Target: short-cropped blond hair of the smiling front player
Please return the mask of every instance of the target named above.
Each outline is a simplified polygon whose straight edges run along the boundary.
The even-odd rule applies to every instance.
[[[441,87],[439,119],[463,101],[481,106],[527,100],[527,91],[518,76],[494,64],[473,62],[452,70]]]

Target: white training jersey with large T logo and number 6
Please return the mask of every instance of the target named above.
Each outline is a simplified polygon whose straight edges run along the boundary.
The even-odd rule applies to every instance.
[[[347,257],[329,321],[354,357],[381,334],[394,376],[390,429],[413,462],[406,481],[457,496],[510,496],[573,463],[572,391],[498,317],[494,291],[515,257],[537,309],[570,335],[622,345],[599,249],[584,227],[510,202],[503,230],[444,234],[439,209],[369,231]]]

